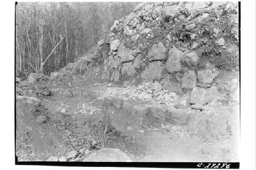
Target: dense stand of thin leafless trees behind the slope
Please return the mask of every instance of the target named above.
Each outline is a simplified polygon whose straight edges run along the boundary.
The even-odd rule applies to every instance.
[[[74,62],[138,3],[18,3],[16,73],[46,75]]]

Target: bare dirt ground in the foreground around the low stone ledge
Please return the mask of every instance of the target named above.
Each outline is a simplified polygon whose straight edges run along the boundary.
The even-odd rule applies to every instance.
[[[100,82],[94,86],[96,82]],[[70,151],[81,149],[88,143],[90,135],[104,148],[118,148],[132,161],[156,162],[234,162],[238,161],[239,104],[234,102],[212,102],[209,105],[221,115],[230,112],[237,122],[230,135],[208,138],[207,134],[189,133],[187,126],[173,125],[158,119],[131,114],[127,110],[111,107],[112,125],[115,130],[102,134],[102,100],[100,91],[122,85],[92,79],[86,83],[44,83],[54,93],[41,96],[40,107],[30,107],[16,102],[16,156],[18,161],[46,161],[49,157],[60,158]],[[41,82],[27,85],[28,89],[41,86]],[[19,86],[19,85],[17,85]],[[82,89],[87,95],[68,98],[66,89]],[[120,101],[121,102],[121,101]],[[126,103],[150,105],[150,102],[131,100]],[[61,110],[65,109],[65,113]],[[178,110],[181,111],[181,110]],[[197,114],[200,112],[194,111]],[[44,115],[46,123],[38,123],[36,117]],[[128,129],[127,127],[131,127]],[[93,151],[95,152],[96,149]],[[80,156],[82,158],[86,156]]]

